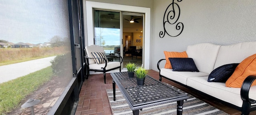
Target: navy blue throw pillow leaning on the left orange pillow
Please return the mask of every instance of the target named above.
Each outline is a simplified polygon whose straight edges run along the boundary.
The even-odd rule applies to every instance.
[[[196,71],[199,72],[199,70],[196,67],[196,64],[192,58],[183,58],[183,57],[175,57],[169,58],[171,65],[172,65],[172,71]]]

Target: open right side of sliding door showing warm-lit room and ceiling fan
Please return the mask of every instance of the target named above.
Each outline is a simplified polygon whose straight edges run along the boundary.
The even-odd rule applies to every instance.
[[[143,66],[144,14],[122,12],[123,65],[129,62]]]

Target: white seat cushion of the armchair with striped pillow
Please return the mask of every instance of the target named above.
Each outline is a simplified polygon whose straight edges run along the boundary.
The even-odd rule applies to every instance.
[[[120,66],[120,62],[118,61],[109,61],[107,64],[108,65],[106,67],[106,70]],[[105,67],[105,63],[101,63],[101,64],[93,63],[89,65],[90,69],[101,69],[101,67]]]

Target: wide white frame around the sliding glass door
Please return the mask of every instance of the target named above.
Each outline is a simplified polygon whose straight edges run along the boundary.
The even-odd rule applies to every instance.
[[[145,18],[145,25],[144,25],[144,60],[143,60],[143,67],[145,69],[149,69],[150,66],[150,8],[145,7],[138,7],[138,6],[127,6],[127,5],[120,5],[120,4],[109,4],[109,3],[102,3],[102,2],[92,2],[83,0],[83,9],[86,11],[84,12],[84,16],[86,16],[87,30],[84,29],[84,32],[87,33],[87,45],[91,46],[94,44],[94,25],[93,25],[93,8],[99,9],[106,9],[106,10],[117,10],[122,12],[136,12],[144,14]]]

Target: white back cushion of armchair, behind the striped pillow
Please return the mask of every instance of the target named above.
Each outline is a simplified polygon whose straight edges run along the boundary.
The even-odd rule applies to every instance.
[[[104,49],[101,46],[92,45],[92,46],[86,46],[85,51],[86,51],[86,54],[87,54],[88,57],[93,57],[92,52],[104,52]],[[96,63],[94,61],[94,59],[89,59],[88,61],[89,61],[88,62],[89,64]]]

